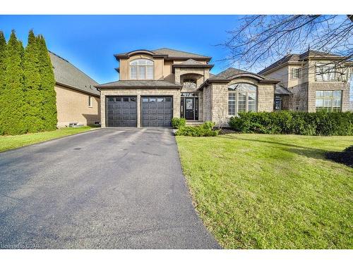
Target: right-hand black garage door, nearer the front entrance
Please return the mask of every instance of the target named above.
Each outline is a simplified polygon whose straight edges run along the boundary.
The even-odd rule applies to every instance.
[[[173,113],[171,96],[143,96],[141,108],[143,127],[171,127]]]

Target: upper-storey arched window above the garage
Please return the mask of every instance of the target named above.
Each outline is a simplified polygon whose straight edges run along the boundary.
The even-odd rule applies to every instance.
[[[138,58],[130,63],[130,79],[132,80],[153,80],[153,61],[146,58]]]

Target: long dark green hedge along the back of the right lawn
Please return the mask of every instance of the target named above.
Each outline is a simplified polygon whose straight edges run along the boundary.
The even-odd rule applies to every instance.
[[[346,136],[353,135],[353,112],[239,113],[230,118],[229,126],[242,133]]]

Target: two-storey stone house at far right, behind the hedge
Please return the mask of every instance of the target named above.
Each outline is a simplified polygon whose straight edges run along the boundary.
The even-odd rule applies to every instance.
[[[259,74],[281,80],[277,89],[289,92],[275,95],[275,110],[349,111],[352,62],[346,59],[309,50],[288,54]]]

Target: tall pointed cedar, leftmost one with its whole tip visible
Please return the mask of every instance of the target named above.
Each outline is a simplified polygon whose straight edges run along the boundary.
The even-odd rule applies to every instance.
[[[5,87],[1,93],[1,127],[4,134],[23,134],[26,132],[23,122],[23,54],[22,42],[11,32],[6,45]]]

